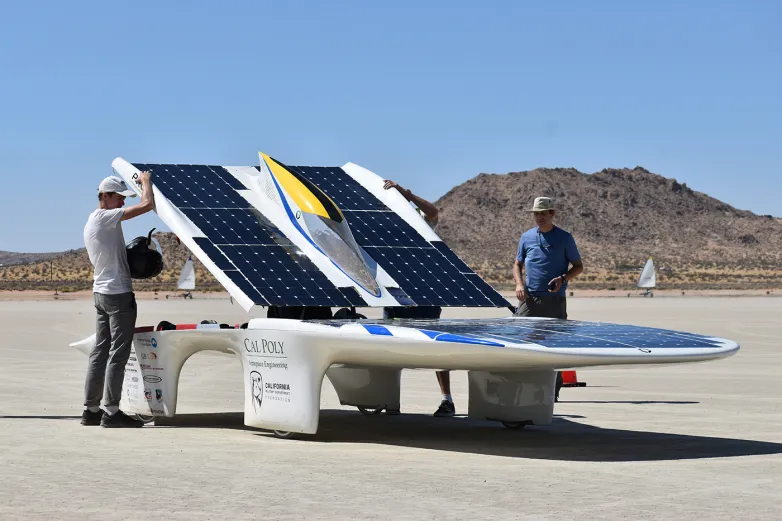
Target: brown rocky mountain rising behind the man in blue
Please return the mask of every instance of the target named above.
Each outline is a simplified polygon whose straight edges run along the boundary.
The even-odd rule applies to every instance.
[[[508,281],[519,237],[534,226],[524,210],[538,196],[554,200],[555,223],[574,235],[587,274],[621,274],[649,255],[668,273],[780,272],[782,220],[641,167],[480,174],[436,202],[437,231],[488,279]]]

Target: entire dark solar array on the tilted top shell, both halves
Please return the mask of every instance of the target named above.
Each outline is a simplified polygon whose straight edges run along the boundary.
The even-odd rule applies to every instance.
[[[222,166],[135,163],[206,236],[196,243],[255,304],[366,306],[353,287],[337,288],[239,194]],[[285,166],[285,165],[284,165]],[[256,167],[257,168],[257,167]],[[440,241],[428,242],[338,167],[285,166],[342,210],[356,242],[399,284],[400,305],[507,306],[491,286]]]

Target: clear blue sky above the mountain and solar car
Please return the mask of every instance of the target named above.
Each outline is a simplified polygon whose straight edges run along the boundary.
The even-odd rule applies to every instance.
[[[0,250],[81,247],[117,156],[354,161],[430,199],[481,172],[641,165],[782,216],[780,6],[9,3]],[[128,240],[166,229],[136,221]]]

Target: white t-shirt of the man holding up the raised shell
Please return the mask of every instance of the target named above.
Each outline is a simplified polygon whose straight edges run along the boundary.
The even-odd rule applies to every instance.
[[[125,235],[122,233],[123,208],[98,208],[90,214],[84,227],[84,246],[95,268],[92,291],[118,295],[133,291]]]

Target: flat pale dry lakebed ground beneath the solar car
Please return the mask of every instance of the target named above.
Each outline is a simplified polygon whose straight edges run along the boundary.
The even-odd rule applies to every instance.
[[[450,419],[431,416],[431,371],[403,373],[401,416],[341,407],[325,381],[318,434],[294,440],[244,427],[238,360],[202,353],[184,367],[170,424],[109,430],[79,425],[86,359],[68,343],[91,334],[90,300],[4,295],[0,519],[779,519],[782,299],[576,295],[569,312],[742,349],[580,370],[587,387],[563,389],[554,422],[521,431],[464,417],[463,372]],[[139,301],[138,325],[247,318],[219,295]]]

